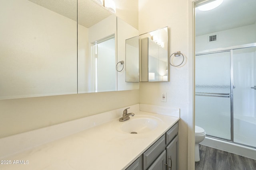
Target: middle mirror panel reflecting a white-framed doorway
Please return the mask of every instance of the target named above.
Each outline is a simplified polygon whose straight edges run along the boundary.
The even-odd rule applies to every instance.
[[[78,93],[116,91],[116,16],[78,1]]]

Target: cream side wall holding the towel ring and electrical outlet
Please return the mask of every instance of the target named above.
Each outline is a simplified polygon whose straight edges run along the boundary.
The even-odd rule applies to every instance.
[[[189,13],[188,0],[139,0],[139,33],[146,33],[165,26],[169,27],[169,56],[175,51],[181,51],[185,56],[184,64],[179,67],[170,66],[170,82],[140,83],[140,103],[166,107],[180,108],[179,121],[179,169],[192,169],[191,127],[192,84],[191,49],[189,49]],[[192,16],[191,16],[192,19]],[[161,102],[162,92],[167,93],[167,102]],[[189,132],[189,133],[188,133]],[[190,154],[190,155],[188,155]],[[188,161],[186,161],[188,160]],[[188,165],[189,164],[189,165]]]

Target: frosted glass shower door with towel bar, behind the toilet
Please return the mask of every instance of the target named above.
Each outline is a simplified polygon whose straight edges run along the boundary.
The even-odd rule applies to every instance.
[[[206,135],[231,140],[230,51],[196,55],[196,125]]]

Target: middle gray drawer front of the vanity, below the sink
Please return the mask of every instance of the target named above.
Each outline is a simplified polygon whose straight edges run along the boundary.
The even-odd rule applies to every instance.
[[[146,170],[165,149],[165,135],[160,137],[146,152],[143,153],[143,169]]]

